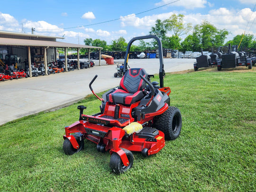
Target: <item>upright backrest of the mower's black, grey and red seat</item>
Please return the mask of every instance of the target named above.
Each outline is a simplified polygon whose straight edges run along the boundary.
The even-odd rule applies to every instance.
[[[129,69],[121,79],[120,88],[127,91],[128,93],[135,93],[142,91],[146,88],[146,82],[140,78],[142,75],[147,79],[147,73],[143,68],[132,68]]]

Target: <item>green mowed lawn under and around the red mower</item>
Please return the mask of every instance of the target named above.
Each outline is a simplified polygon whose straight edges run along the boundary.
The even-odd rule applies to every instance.
[[[167,73],[181,135],[156,155],[133,153],[125,174],[113,174],[109,152],[87,140],[82,152],[64,154],[64,127],[78,120],[78,104],[0,126],[0,191],[255,192],[256,70],[237,72]],[[79,103],[85,114],[100,111],[91,98]]]

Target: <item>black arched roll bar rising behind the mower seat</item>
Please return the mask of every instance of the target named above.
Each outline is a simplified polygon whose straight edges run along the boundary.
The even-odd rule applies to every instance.
[[[164,87],[164,77],[165,77],[165,75],[164,75],[165,70],[164,70],[164,63],[163,63],[163,47],[162,47],[161,40],[154,35],[134,37],[129,41],[127,49],[126,49],[126,54],[125,54],[124,73],[128,70],[128,67],[127,67],[128,66],[128,58],[129,58],[129,52],[130,52],[130,47],[131,47],[132,43],[136,40],[151,39],[151,38],[154,38],[158,43],[159,61],[160,61],[159,79],[160,79],[160,87],[162,88],[162,87]]]

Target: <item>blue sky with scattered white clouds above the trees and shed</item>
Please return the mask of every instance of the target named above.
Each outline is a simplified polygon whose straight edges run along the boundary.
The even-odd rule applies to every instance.
[[[31,34],[34,27],[34,34],[64,36],[58,41],[67,43],[83,44],[85,38],[99,38],[111,44],[121,36],[128,42],[132,37],[147,35],[156,19],[164,20],[176,13],[183,14],[184,23],[192,26],[205,19],[219,29],[227,29],[231,34],[226,41],[245,30],[256,38],[256,0],[174,1],[2,0],[0,30],[22,32],[23,27],[23,32]],[[101,23],[109,20],[114,21]]]

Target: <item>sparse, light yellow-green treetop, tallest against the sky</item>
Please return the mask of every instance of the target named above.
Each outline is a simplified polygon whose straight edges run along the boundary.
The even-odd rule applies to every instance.
[[[164,20],[164,25],[167,31],[172,31],[174,36],[179,37],[187,34],[192,30],[192,23],[183,23],[184,15],[175,13],[168,19]]]

